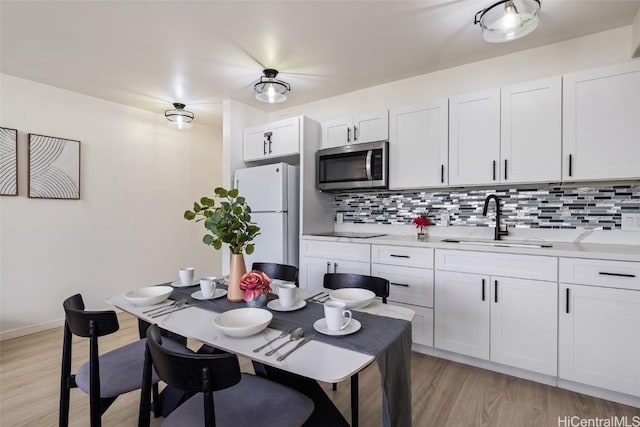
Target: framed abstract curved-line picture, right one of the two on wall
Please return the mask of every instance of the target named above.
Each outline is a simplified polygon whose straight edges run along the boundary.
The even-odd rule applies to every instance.
[[[80,198],[80,141],[29,134],[29,197]]]

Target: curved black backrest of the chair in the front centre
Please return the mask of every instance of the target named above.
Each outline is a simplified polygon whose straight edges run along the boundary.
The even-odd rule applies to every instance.
[[[187,393],[210,393],[240,382],[240,364],[235,354],[170,350],[162,345],[158,325],[147,330],[147,348],[160,379]]]

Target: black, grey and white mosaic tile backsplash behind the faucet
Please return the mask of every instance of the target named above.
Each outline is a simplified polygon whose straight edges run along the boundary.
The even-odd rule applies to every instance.
[[[436,222],[441,213],[448,212],[450,225],[495,226],[493,202],[487,216],[482,215],[489,194],[502,200],[501,222],[518,228],[619,230],[623,212],[640,212],[640,184],[341,193],[335,196],[335,209],[343,214],[345,223],[410,224],[429,211]]]

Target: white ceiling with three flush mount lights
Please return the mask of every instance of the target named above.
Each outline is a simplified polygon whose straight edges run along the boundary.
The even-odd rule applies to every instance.
[[[162,113],[183,102],[220,126],[221,102],[266,111],[252,85],[276,68],[286,106],[630,25],[640,0],[542,0],[540,25],[489,44],[495,0],[0,0],[0,71]]]

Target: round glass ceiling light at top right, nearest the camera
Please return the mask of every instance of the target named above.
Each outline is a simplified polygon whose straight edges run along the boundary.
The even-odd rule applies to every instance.
[[[503,43],[526,36],[538,26],[540,0],[502,0],[476,13],[482,38]]]

